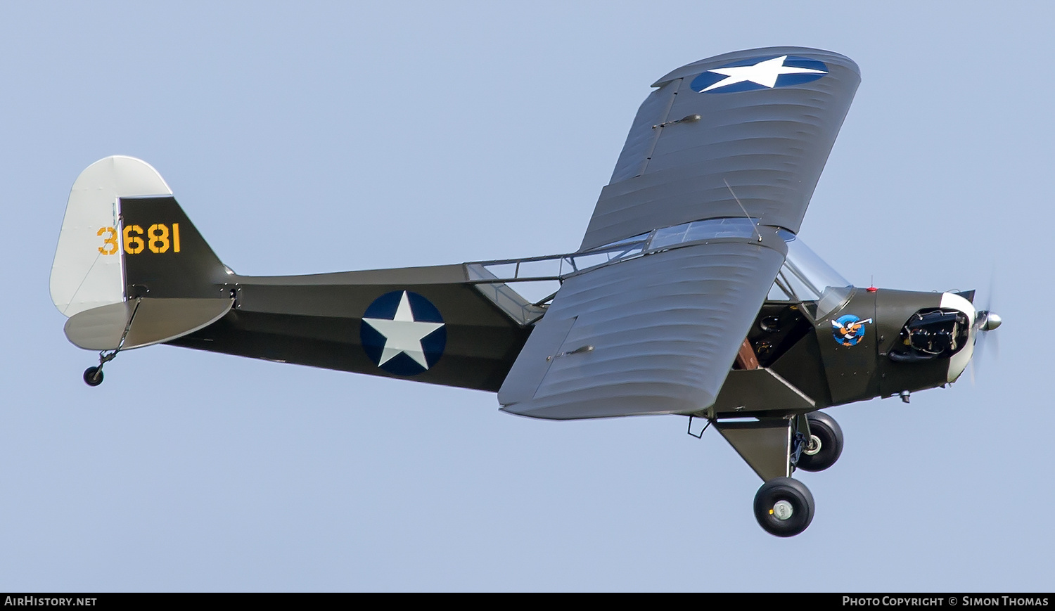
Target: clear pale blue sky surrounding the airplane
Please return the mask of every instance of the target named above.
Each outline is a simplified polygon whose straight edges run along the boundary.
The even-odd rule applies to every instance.
[[[0,590],[1050,591],[1052,7],[523,6],[4,7]],[[239,273],[568,251],[648,85],[773,44],[863,75],[804,238],[858,284],[995,269],[1005,321],[975,385],[829,410],[846,448],[797,538],[683,418],[168,346],[80,380],[47,276],[100,157],[154,165]]]

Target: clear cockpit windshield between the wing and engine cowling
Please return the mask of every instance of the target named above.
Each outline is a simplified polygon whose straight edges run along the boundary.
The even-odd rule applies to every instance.
[[[800,302],[814,320],[845,304],[853,286],[801,238],[791,236],[787,244],[788,257],[769,289],[768,299]]]

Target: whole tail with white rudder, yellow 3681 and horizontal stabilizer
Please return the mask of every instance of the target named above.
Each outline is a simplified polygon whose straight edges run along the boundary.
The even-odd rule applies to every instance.
[[[146,161],[107,157],[77,177],[51,278],[74,344],[129,349],[193,332],[230,309],[228,273]]]

